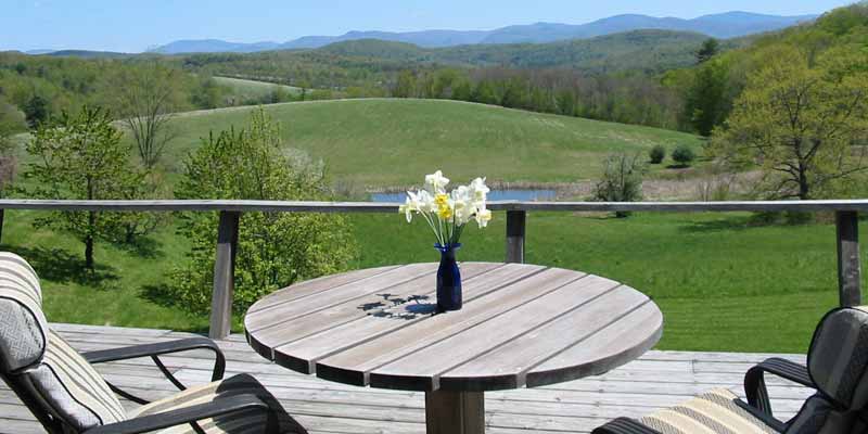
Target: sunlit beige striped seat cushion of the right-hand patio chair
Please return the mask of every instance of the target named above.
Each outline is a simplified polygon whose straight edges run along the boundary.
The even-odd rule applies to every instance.
[[[738,400],[738,396],[727,390],[714,390],[639,421],[662,434],[777,433],[741,408]]]

